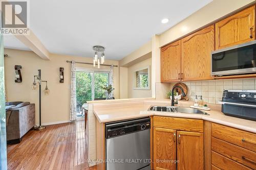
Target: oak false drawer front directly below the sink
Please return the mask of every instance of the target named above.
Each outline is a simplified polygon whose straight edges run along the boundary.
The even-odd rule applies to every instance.
[[[191,118],[177,118],[166,116],[154,116],[153,126],[159,128],[176,129],[191,132],[204,132],[203,120]]]

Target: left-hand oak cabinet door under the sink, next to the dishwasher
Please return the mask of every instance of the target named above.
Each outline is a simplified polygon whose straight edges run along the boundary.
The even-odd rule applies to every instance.
[[[154,169],[176,169],[176,130],[154,128]]]

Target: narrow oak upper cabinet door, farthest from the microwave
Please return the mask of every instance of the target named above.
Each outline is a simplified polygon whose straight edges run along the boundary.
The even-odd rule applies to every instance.
[[[180,81],[181,40],[161,48],[161,82]]]

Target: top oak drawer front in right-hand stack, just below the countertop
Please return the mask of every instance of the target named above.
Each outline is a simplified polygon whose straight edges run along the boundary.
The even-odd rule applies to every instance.
[[[212,136],[256,152],[256,134],[214,123],[211,126]]]

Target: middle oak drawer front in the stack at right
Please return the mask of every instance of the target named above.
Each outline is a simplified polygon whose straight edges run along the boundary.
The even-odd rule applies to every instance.
[[[253,151],[238,147],[237,145],[215,137],[211,138],[211,150],[250,168],[256,169],[256,153]]]

